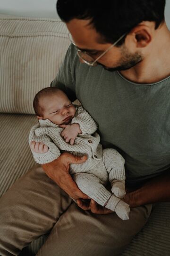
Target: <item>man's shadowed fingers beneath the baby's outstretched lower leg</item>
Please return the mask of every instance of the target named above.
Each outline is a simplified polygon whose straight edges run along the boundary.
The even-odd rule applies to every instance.
[[[91,210],[91,212],[95,213],[95,214],[109,214],[109,213],[113,213],[112,210],[109,210],[101,205],[99,205],[98,203],[96,203],[93,199],[86,200],[86,201],[82,201],[81,199],[77,199],[76,200],[77,205],[83,209],[83,210]]]

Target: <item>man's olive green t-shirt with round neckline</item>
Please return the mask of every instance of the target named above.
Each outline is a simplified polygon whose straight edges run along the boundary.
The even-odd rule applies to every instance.
[[[127,185],[170,169],[170,77],[151,84],[130,82],[101,65],[80,63],[70,45],[51,86],[78,99],[97,122],[103,148],[123,155]]]

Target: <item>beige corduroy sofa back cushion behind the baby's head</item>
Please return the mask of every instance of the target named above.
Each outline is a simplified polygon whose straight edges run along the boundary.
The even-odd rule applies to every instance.
[[[58,19],[0,15],[0,112],[33,114],[35,93],[50,86],[69,44]]]

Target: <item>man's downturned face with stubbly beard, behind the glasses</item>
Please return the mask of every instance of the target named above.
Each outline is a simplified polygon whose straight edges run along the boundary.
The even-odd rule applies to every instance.
[[[66,25],[70,31],[76,46],[80,50],[86,51],[93,59],[97,59],[106,49],[110,43],[101,43],[101,36],[92,25],[88,25],[89,20],[72,19]],[[127,49],[125,44],[120,47],[114,46],[98,61],[105,69],[109,71],[126,70],[143,59],[140,52],[133,52],[132,49]],[[80,59],[81,61],[81,59]]]

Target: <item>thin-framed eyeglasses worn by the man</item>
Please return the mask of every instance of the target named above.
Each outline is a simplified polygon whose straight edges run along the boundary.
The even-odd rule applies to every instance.
[[[121,37],[119,37],[119,39],[112,44],[111,46],[109,46],[109,48],[107,48],[99,57],[97,57],[97,59],[94,59],[92,56],[90,56],[86,51],[82,51],[80,49],[77,48],[76,44],[74,43],[71,34],[68,33],[68,38],[70,40],[70,42],[76,46],[76,50],[77,50],[77,55],[78,57],[87,65],[89,66],[97,66],[97,61],[102,58],[103,55],[105,55],[108,51],[110,51],[111,48],[113,48],[113,46],[116,46],[117,43],[126,36],[127,33],[123,34]]]

